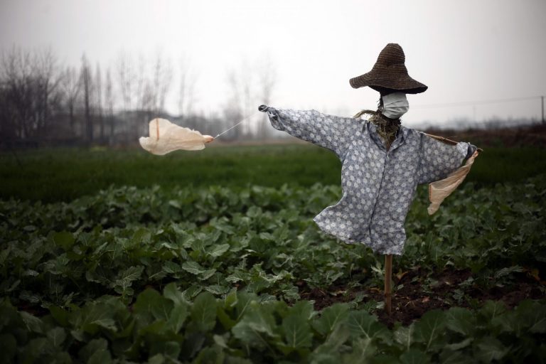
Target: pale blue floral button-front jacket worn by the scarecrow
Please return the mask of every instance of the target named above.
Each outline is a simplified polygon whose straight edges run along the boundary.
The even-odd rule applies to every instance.
[[[373,123],[316,110],[267,109],[275,129],[331,149],[342,162],[343,196],[314,221],[349,244],[363,243],[379,254],[402,255],[404,222],[419,183],[445,178],[476,146],[455,146],[400,127],[387,151]]]

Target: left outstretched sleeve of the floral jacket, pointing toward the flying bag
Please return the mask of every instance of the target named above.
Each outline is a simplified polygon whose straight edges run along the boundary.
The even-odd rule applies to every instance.
[[[334,151],[343,159],[362,129],[360,119],[321,114],[316,110],[269,108],[269,122],[277,130]]]

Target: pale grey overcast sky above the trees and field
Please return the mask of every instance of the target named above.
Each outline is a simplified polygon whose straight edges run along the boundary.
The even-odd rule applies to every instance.
[[[539,98],[422,105],[546,95],[545,14],[544,0],[0,0],[0,48],[50,46],[61,63],[77,66],[84,52],[105,67],[122,51],[161,52],[173,66],[184,59],[196,77],[193,109],[205,114],[227,102],[228,70],[269,59],[277,70],[272,106],[350,115],[375,108],[378,93],[355,90],[349,79],[399,43],[410,76],[429,86],[408,95],[406,124],[539,118]]]

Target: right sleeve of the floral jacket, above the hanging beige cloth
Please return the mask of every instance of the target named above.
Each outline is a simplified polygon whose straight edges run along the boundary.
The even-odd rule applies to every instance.
[[[419,137],[421,139],[419,183],[431,183],[446,178],[476,151],[476,146],[465,141],[449,145],[423,133],[419,133]]]

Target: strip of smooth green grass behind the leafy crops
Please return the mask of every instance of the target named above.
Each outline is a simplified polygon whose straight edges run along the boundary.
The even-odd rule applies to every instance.
[[[214,146],[154,156],[142,149],[38,149],[0,154],[0,198],[69,201],[109,186],[311,186],[340,183],[341,162],[312,144]],[[476,186],[546,171],[546,149],[488,148],[467,178]]]

